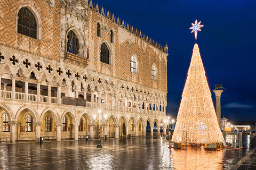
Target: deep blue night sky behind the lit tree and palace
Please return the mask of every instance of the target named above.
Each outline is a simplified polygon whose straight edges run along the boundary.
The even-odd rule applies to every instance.
[[[222,83],[221,117],[255,121],[256,1],[255,0],[98,0],[95,4],[119,16],[158,43],[169,47],[166,113],[178,114],[194,34],[191,23],[202,21],[197,44],[211,90]],[[215,95],[212,92],[215,105]]]

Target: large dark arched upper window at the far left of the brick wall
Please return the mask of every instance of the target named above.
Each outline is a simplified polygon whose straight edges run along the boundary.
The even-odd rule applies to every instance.
[[[22,7],[18,13],[18,33],[36,39],[36,29],[35,16],[27,7]]]

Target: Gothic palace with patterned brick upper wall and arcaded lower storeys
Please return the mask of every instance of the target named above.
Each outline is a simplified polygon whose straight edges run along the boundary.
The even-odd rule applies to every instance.
[[[0,6],[1,141],[166,131],[167,46],[91,1]]]

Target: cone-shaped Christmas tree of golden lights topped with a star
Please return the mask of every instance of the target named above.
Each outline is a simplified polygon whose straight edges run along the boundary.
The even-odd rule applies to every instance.
[[[203,27],[200,23],[196,21],[191,27],[195,31],[195,38],[197,30],[200,31],[199,28]],[[194,45],[172,141],[182,143],[223,142],[197,44]]]

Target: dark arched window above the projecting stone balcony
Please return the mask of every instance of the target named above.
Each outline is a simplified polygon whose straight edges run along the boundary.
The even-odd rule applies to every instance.
[[[79,51],[79,42],[76,37],[76,34],[73,31],[69,31],[67,38],[68,38],[67,52],[77,55]]]

